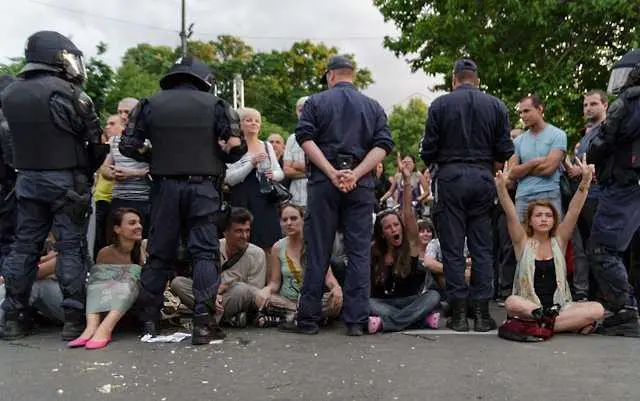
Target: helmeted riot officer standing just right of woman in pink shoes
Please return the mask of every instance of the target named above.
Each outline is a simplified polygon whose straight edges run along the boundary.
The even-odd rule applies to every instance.
[[[181,233],[193,259],[195,345],[224,338],[215,319],[219,249],[215,225],[218,184],[225,164],[246,153],[239,118],[207,93],[213,75],[203,62],[184,57],[160,80],[162,90],[140,101],[120,142],[123,155],[151,164],[149,262],[142,270],[140,319],[155,335],[163,293]],[[153,147],[145,146],[150,140]]]

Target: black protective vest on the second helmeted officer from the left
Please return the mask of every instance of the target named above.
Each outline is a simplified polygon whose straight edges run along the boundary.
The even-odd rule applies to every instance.
[[[220,176],[215,96],[197,90],[163,90],[149,99],[151,174]]]

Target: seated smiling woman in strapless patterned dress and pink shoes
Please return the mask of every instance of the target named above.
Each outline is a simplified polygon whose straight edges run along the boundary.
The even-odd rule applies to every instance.
[[[70,348],[104,348],[116,324],[138,297],[144,265],[142,216],[133,208],[115,209],[110,218],[109,243],[98,252],[87,283],[87,327]],[[101,314],[107,313],[101,321]]]

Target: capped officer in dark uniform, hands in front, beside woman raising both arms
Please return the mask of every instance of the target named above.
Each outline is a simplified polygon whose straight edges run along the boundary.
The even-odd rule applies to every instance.
[[[470,59],[454,64],[453,91],[429,106],[420,156],[439,167],[433,215],[442,248],[446,292],[452,317],[447,327],[468,331],[467,299],[473,300],[474,330],[489,331],[493,297],[491,210],[496,197],[494,162],[513,154],[507,108],[478,89],[478,69]],[[473,261],[470,288],[464,279],[464,242]]]

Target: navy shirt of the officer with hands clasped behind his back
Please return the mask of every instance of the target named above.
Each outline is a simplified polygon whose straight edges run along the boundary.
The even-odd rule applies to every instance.
[[[295,135],[301,146],[314,141],[333,165],[339,154],[352,156],[359,163],[373,148],[384,149],[387,154],[393,150],[384,109],[348,82],[311,95],[302,108]],[[328,179],[311,166],[310,183]],[[373,188],[371,174],[362,177],[358,185]]]

